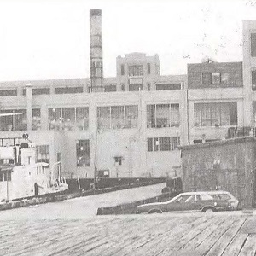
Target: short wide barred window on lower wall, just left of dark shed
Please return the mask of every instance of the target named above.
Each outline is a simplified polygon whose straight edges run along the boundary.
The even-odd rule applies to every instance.
[[[173,151],[180,144],[180,137],[150,137],[148,138],[148,152]]]

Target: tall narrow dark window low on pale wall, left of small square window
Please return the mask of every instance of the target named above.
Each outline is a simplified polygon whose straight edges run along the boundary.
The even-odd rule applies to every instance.
[[[90,141],[77,141],[77,166],[90,166]]]

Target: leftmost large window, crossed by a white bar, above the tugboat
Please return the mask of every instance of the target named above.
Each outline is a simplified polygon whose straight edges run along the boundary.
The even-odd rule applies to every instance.
[[[26,131],[26,109],[1,110],[0,131]]]

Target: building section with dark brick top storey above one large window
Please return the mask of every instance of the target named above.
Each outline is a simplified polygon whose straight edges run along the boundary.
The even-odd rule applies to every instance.
[[[188,65],[188,141],[190,144],[229,137],[246,125],[242,62]]]

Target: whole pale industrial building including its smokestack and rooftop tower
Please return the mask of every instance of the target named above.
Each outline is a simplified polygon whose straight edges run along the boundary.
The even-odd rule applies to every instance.
[[[179,145],[254,124],[256,21],[244,22],[242,62],[162,76],[158,55],[131,53],[117,56],[112,78],[103,76],[101,26],[102,11],[90,10],[90,78],[0,83],[0,113],[20,113],[0,118],[2,144],[28,133],[38,161],[61,162],[66,177],[166,177],[180,171]]]

